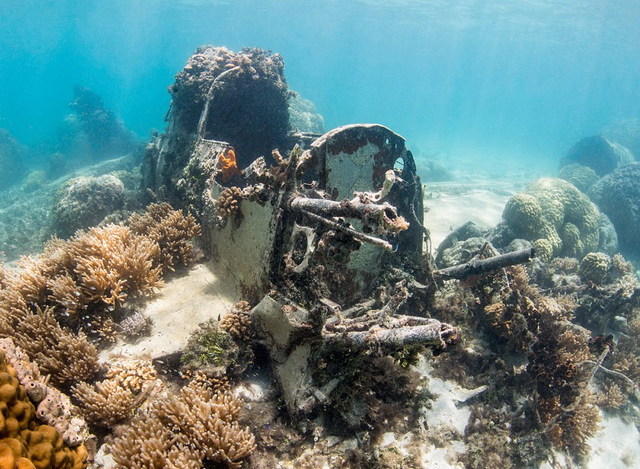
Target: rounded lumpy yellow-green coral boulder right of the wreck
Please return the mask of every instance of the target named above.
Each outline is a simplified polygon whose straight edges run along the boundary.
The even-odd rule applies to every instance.
[[[502,218],[517,238],[532,241],[541,257],[580,258],[600,240],[600,211],[574,185],[542,178],[507,202]]]

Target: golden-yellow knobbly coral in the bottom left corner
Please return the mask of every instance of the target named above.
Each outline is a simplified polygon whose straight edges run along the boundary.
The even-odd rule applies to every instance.
[[[84,469],[87,450],[84,445],[69,448],[52,426],[38,425],[36,411],[0,351],[0,457],[8,468]]]

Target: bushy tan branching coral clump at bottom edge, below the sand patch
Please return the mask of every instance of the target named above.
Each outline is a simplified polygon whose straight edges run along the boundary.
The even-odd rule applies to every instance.
[[[110,452],[117,467],[127,469],[200,468],[202,460],[238,468],[255,448],[254,436],[237,423],[240,406],[227,392],[191,383],[120,429]]]

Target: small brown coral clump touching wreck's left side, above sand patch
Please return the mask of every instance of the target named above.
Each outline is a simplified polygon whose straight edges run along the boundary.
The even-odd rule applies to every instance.
[[[144,213],[131,215],[128,225],[134,233],[158,244],[160,252],[154,262],[163,270],[175,270],[193,262],[191,239],[200,235],[200,225],[193,216],[173,210],[167,203],[151,204]]]

